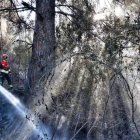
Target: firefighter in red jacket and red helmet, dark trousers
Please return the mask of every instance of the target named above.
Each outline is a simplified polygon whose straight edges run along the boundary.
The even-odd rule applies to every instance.
[[[0,84],[3,85],[5,79],[8,82],[10,89],[13,88],[11,78],[10,78],[10,65],[8,63],[8,55],[3,54],[2,60],[0,62]]]

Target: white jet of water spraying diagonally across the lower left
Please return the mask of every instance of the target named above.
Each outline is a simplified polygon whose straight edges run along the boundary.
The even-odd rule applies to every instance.
[[[30,115],[30,119],[27,119],[27,125],[33,130],[33,132],[42,138],[42,140],[46,140],[46,134],[48,136],[48,129],[47,127],[37,118],[33,115],[33,113],[27,109],[21,101],[15,97],[12,93],[10,93],[8,90],[6,90],[4,87],[0,85],[0,94],[2,94],[9,103],[13,105],[13,107],[17,110],[18,114],[22,118],[26,118],[28,115]],[[42,131],[43,130],[43,131]],[[45,136],[44,136],[45,133]],[[48,139],[48,138],[47,138]]]

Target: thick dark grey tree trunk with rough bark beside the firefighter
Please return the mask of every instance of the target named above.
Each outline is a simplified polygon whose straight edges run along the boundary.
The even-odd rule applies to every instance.
[[[55,0],[36,0],[36,22],[28,78],[31,89],[54,67]]]

